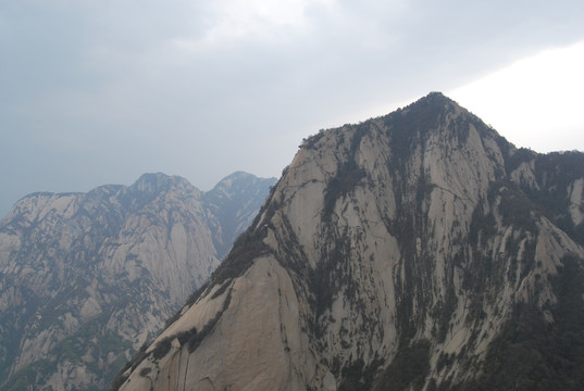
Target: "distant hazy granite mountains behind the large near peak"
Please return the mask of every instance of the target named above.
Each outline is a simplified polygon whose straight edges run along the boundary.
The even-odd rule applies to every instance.
[[[0,224],[2,389],[107,389],[207,281],[215,243],[233,243],[274,181],[226,177],[229,211],[163,174],[20,200]]]

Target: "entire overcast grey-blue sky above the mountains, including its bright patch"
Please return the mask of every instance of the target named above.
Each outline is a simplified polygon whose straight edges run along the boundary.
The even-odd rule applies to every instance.
[[[584,1],[0,0],[0,215],[33,191],[279,176],[303,137],[443,91],[584,150]]]

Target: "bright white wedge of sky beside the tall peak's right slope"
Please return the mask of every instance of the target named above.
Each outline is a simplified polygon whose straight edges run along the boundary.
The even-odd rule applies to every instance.
[[[517,147],[584,151],[584,41],[548,49],[448,94]]]

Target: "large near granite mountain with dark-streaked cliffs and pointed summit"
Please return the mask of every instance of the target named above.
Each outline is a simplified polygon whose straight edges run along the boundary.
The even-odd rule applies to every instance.
[[[583,189],[440,93],[321,131],[112,388],[582,390]]]

